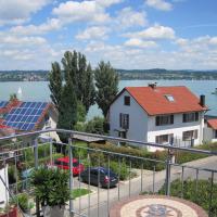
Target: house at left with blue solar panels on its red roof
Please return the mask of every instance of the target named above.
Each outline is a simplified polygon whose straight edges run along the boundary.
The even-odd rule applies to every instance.
[[[49,102],[0,101],[0,136],[55,128],[58,111]],[[58,135],[50,137],[58,140]]]

